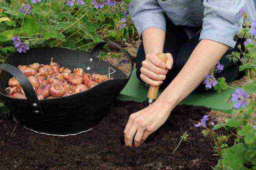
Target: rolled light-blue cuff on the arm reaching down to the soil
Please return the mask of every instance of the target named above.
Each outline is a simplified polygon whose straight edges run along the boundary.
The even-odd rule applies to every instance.
[[[199,41],[201,39],[213,40],[228,45],[229,49],[236,46],[234,35],[238,34],[239,29],[241,29],[231,23],[217,19],[204,20],[202,28]]]

